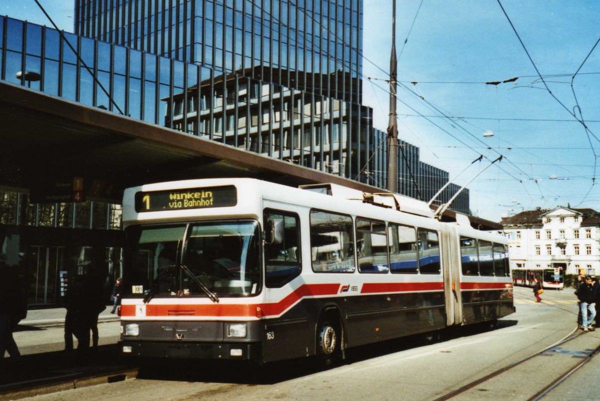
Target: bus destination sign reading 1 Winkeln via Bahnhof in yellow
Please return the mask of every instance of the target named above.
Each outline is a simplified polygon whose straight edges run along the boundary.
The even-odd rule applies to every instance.
[[[217,208],[236,204],[238,195],[233,185],[136,193],[137,212]]]

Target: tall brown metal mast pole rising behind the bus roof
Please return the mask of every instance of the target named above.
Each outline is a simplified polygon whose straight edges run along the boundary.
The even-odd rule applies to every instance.
[[[388,190],[398,192],[398,119],[396,118],[396,0],[392,0],[392,54],[389,58]]]

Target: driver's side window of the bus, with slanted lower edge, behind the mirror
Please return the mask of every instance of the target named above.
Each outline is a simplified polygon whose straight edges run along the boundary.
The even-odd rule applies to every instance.
[[[298,276],[300,264],[300,223],[298,215],[281,211],[265,211],[264,226],[272,222],[283,226],[281,241],[265,244],[265,282],[268,287],[280,287]]]

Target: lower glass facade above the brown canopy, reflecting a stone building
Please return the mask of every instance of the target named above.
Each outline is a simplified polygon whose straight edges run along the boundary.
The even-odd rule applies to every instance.
[[[84,3],[88,4],[80,6]],[[202,7],[208,3],[202,2]],[[79,25],[85,25],[83,20]],[[4,17],[0,17],[0,33],[2,80],[386,186],[386,133],[372,127],[372,109],[317,94],[313,86],[311,92],[278,85],[281,68],[260,66],[264,78],[255,79]],[[31,73],[38,79],[29,79]],[[403,140],[398,145],[398,192],[428,200],[448,180],[448,173],[422,166],[416,146]],[[464,195],[452,208],[468,213],[468,193]],[[48,212],[44,209],[44,213]]]

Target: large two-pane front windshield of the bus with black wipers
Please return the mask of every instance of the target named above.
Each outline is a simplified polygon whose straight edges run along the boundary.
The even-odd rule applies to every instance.
[[[257,294],[260,238],[256,221],[206,222],[127,229],[133,248],[124,280],[133,295]]]

